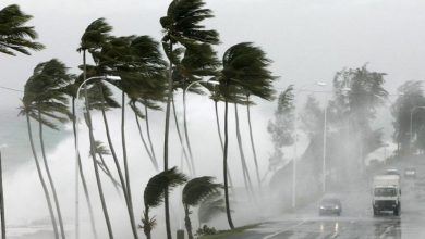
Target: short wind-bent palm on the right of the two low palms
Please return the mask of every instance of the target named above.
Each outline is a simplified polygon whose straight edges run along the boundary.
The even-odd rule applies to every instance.
[[[184,207],[184,224],[189,239],[193,239],[190,206],[198,205],[203,200],[219,192],[221,184],[214,184],[214,177],[197,177],[187,181],[183,188],[182,202]]]

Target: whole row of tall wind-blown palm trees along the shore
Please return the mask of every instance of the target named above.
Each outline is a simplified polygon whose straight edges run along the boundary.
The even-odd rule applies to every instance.
[[[12,5],[12,10],[3,9],[1,14],[11,14],[13,11],[16,13],[16,5]],[[7,11],[5,11],[7,10]],[[5,12],[5,13],[3,13]],[[17,11],[20,12],[20,11]],[[31,18],[21,13],[19,21],[16,20],[16,30],[23,28],[22,33],[15,37],[21,37],[24,40],[11,40],[8,38],[0,39],[0,51],[8,54],[13,54],[13,51],[22,53],[29,53],[27,49],[40,50],[42,46],[32,40],[25,40],[26,38],[35,39],[36,33],[33,27],[22,26]],[[220,146],[223,151],[223,190],[226,211],[229,222],[229,226],[233,228],[233,222],[231,218],[231,209],[229,203],[229,177],[228,169],[228,144],[229,144],[229,131],[228,131],[228,103],[234,103],[236,124],[239,126],[239,116],[236,104],[247,105],[247,116],[250,124],[251,142],[253,147],[254,160],[256,165],[257,178],[258,163],[256,159],[254,140],[252,136],[252,125],[250,115],[250,101],[251,96],[256,96],[265,100],[271,100],[274,90],[271,87],[272,81],[276,79],[271,75],[268,66],[270,60],[266,58],[265,52],[254,46],[251,42],[238,43],[229,48],[222,60],[217,58],[217,53],[214,51],[212,46],[219,43],[219,35],[214,29],[205,29],[203,21],[214,17],[212,11],[205,8],[203,0],[173,0],[167,11],[167,15],[161,17],[160,23],[163,28],[165,36],[161,39],[162,50],[166,53],[168,63],[162,60],[159,43],[156,42],[149,36],[120,36],[116,37],[111,35],[112,27],[106,22],[105,18],[94,21],[88,25],[84,32],[78,52],[82,53],[83,64],[81,66],[82,75],[75,76],[68,73],[68,68],[60,61],[53,59],[51,61],[40,63],[36,66],[34,74],[29,77],[25,85],[25,92],[22,100],[21,113],[26,116],[28,125],[28,136],[32,142],[32,149],[34,159],[37,166],[37,172],[46,194],[50,217],[54,228],[56,238],[65,238],[62,215],[59,205],[59,199],[56,192],[53,179],[51,178],[50,169],[48,166],[48,160],[44,148],[44,135],[42,128],[47,126],[49,128],[59,129],[54,122],[65,123],[69,120],[73,122],[74,137],[76,136],[75,125],[76,110],[75,102],[78,88],[82,84],[86,83],[89,77],[101,77],[105,75],[118,75],[121,80],[104,80],[121,90],[121,104],[113,99],[112,90],[104,83],[90,81],[84,85],[84,98],[85,98],[85,120],[89,131],[90,142],[90,156],[93,160],[94,172],[96,175],[97,187],[101,205],[104,210],[105,221],[108,227],[109,238],[113,238],[112,228],[109,222],[109,214],[107,209],[106,199],[102,192],[102,185],[99,175],[99,168],[111,178],[112,184],[122,191],[125,200],[125,205],[133,231],[134,238],[138,238],[136,224],[134,219],[132,192],[130,187],[130,172],[129,172],[129,159],[126,155],[126,142],[125,142],[125,105],[129,104],[133,111],[136,120],[136,124],[139,130],[141,139],[147,154],[158,171],[159,165],[155,154],[154,146],[150,138],[150,129],[148,123],[148,110],[160,110],[160,103],[166,102],[166,126],[165,126],[165,142],[163,142],[163,171],[169,171],[169,124],[170,124],[170,111],[173,104],[174,91],[181,89],[195,93],[203,93],[203,91],[195,84],[194,87],[189,88],[193,83],[203,83],[208,78],[210,81],[215,81],[217,86],[210,87],[205,85],[211,91],[211,99],[216,105],[216,117],[218,124],[218,131],[220,136]],[[13,17],[12,17],[13,18]],[[25,21],[23,21],[25,20]],[[21,21],[21,22],[20,22]],[[0,28],[0,34],[2,34]],[[5,35],[8,33],[5,32]],[[2,35],[0,35],[2,36]],[[27,42],[28,41],[28,42]],[[20,45],[21,43],[21,45]],[[92,56],[94,65],[87,64],[87,53]],[[184,93],[183,93],[184,96]],[[71,99],[71,109],[68,109],[69,100]],[[127,100],[129,99],[129,103]],[[186,109],[185,98],[183,98],[183,125],[184,125],[184,139],[182,134],[179,133],[179,138],[185,153],[187,165],[191,168],[191,175],[196,175],[195,160],[190,142],[186,122]],[[221,138],[221,129],[219,128],[219,115],[217,110],[217,102],[224,102],[224,139]],[[144,106],[144,112],[138,108]],[[116,108],[121,108],[121,138],[122,138],[122,158],[117,155],[114,146],[111,140],[109,130],[109,124],[107,120],[107,111]],[[112,171],[105,163],[102,159],[102,150],[98,148],[99,142],[95,139],[93,134],[92,112],[93,110],[100,110],[102,114],[105,130],[108,140],[108,148],[111,153],[114,163],[114,169],[118,175],[118,180],[114,179]],[[175,113],[175,111],[174,111]],[[175,116],[175,115],[174,115]],[[144,118],[146,122],[146,135],[148,137],[148,143],[143,137],[142,127],[138,120]],[[37,158],[37,151],[34,147],[34,138],[32,133],[31,120],[35,120],[39,123],[39,139],[41,144],[42,163],[45,171],[48,175],[48,185],[41,173],[41,167]],[[178,122],[177,122],[178,123]],[[242,149],[242,142],[240,137],[240,129],[236,127],[236,135],[239,139],[239,147],[241,152],[242,169],[244,173],[244,179],[246,181],[246,188],[253,192],[253,186],[251,181],[250,172],[247,168],[246,160]],[[184,142],[183,142],[184,140]],[[186,151],[187,150],[187,151]],[[105,152],[105,150],[104,150]],[[98,160],[100,158],[100,160]],[[95,223],[93,219],[93,209],[90,198],[88,194],[85,176],[81,164],[81,158],[78,159],[80,177],[82,179],[85,198],[90,214],[90,222],[93,227],[93,234],[96,238]],[[122,163],[121,163],[121,162]],[[123,166],[121,165],[123,164]],[[123,167],[123,168],[122,168]],[[53,201],[50,199],[51,190]],[[163,202],[166,214],[166,228],[167,238],[171,238],[170,215],[169,215],[169,185],[166,185],[163,189]],[[145,202],[146,203],[146,202]],[[185,211],[189,211],[190,204],[185,205]],[[53,207],[56,209],[53,211]],[[148,212],[148,211],[147,211]],[[146,213],[146,212],[145,212]],[[59,226],[57,226],[56,216],[58,217]],[[59,232],[60,231],[60,232]],[[78,234],[78,231],[76,231]]]

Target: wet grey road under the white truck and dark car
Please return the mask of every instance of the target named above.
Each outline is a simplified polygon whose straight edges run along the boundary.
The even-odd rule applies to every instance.
[[[425,238],[425,160],[416,179],[402,179],[401,215],[373,216],[369,189],[341,194],[341,216],[318,216],[318,203],[282,215],[229,239],[423,239]],[[401,167],[404,168],[404,167]]]

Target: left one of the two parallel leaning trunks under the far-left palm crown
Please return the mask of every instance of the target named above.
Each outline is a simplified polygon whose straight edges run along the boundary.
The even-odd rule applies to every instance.
[[[49,209],[50,221],[51,221],[51,224],[53,226],[54,238],[59,239],[59,231],[58,231],[58,225],[57,225],[56,218],[54,218],[53,206],[51,205],[49,191],[47,189],[45,179],[42,178],[41,167],[39,165],[38,158],[37,158],[37,152],[36,152],[35,147],[34,147],[33,131],[31,129],[31,123],[29,123],[29,115],[28,115],[28,113],[26,114],[26,125],[27,125],[27,128],[28,128],[29,143],[31,143],[31,149],[33,151],[34,161],[36,163],[38,178],[40,179],[42,191],[45,192],[45,197],[46,197],[46,201],[47,201],[47,206]]]

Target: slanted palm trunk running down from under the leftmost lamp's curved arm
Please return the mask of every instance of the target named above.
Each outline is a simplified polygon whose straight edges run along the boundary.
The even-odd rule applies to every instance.
[[[92,160],[93,160],[93,167],[95,169],[95,175],[96,175],[96,183],[97,183],[97,188],[99,191],[99,197],[100,197],[100,202],[101,202],[101,209],[104,211],[104,217],[105,222],[108,228],[108,235],[109,239],[113,238],[113,232],[112,232],[112,227],[111,223],[109,221],[109,214],[108,214],[108,209],[105,202],[105,196],[104,196],[104,189],[101,187],[101,180],[99,176],[99,168],[97,167],[97,160],[96,160],[96,149],[95,149],[95,137],[93,135],[93,125],[92,125],[92,116],[90,116],[90,111],[89,111],[89,103],[88,103],[88,93],[87,93],[87,87],[84,87],[84,93],[85,93],[85,105],[86,105],[86,112],[87,112],[87,126],[88,126],[88,135],[89,135],[89,140],[90,140],[90,154],[92,154]]]

